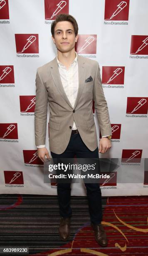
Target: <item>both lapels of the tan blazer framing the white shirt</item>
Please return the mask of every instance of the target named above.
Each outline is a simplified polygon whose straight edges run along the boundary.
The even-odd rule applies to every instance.
[[[86,74],[86,69],[84,67],[85,61],[83,60],[83,58],[81,58],[81,56],[78,56],[78,73],[79,73],[79,87],[78,87],[78,92],[76,95],[76,101],[74,103],[74,108],[76,107],[79,98],[81,96],[81,93],[83,91],[84,85],[85,85],[85,74]],[[62,85],[62,81],[61,81],[61,77],[59,74],[59,68],[58,68],[58,64],[57,64],[57,57],[55,57],[50,65],[50,69],[51,69],[51,75],[52,78],[54,80],[54,84],[56,85],[57,89],[59,90],[59,93],[61,94],[61,96],[64,98],[64,100],[67,102],[67,104],[73,109],[65,91],[64,91],[64,87]]]

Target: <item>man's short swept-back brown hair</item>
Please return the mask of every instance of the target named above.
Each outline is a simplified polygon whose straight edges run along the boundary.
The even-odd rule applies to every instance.
[[[76,22],[76,19],[72,15],[62,13],[62,14],[59,14],[57,16],[56,20],[52,21],[51,33],[52,33],[53,37],[54,37],[54,28],[55,28],[55,26],[57,25],[57,23],[59,21],[69,21],[69,22],[71,22],[73,27],[74,27],[75,36],[77,36],[77,34],[78,34],[78,24]]]

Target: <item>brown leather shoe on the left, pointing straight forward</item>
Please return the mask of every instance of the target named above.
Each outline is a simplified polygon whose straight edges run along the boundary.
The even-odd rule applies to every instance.
[[[62,241],[67,241],[70,236],[70,218],[61,218],[59,225],[59,236]]]

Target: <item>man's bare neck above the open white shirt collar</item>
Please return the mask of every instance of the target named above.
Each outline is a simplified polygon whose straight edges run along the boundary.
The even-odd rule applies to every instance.
[[[57,58],[58,60],[66,67],[69,67],[72,61],[76,58],[75,49],[69,52],[61,52],[57,50]]]

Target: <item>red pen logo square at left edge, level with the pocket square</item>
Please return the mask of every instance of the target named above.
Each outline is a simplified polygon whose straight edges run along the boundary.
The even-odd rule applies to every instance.
[[[15,83],[13,66],[0,66],[0,84]]]

